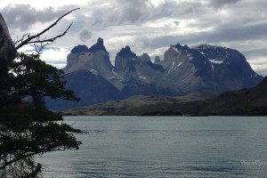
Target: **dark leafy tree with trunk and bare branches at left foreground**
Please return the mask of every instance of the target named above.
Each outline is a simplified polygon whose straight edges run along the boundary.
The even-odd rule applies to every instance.
[[[22,36],[14,45],[0,14],[0,177],[39,177],[42,166],[35,155],[77,150],[81,144],[74,136],[81,131],[57,122],[61,116],[44,107],[44,97],[78,100],[65,88],[62,70],[40,60],[44,47],[70,28],[59,36],[42,38],[61,18],[35,36]],[[34,44],[36,53],[17,53],[26,44]]]

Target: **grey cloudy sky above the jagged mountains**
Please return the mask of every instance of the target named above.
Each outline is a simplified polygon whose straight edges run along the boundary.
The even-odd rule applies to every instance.
[[[0,0],[14,40],[36,34],[77,7],[81,9],[45,34],[59,35],[74,22],[42,56],[59,68],[75,45],[91,46],[100,36],[111,61],[125,45],[137,55],[149,53],[153,60],[156,55],[162,59],[170,44],[207,43],[239,50],[256,72],[267,75],[266,0]]]

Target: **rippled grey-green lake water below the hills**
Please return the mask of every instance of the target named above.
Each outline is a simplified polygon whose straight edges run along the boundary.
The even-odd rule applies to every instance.
[[[266,177],[267,117],[64,117],[80,150],[36,160],[44,177]]]

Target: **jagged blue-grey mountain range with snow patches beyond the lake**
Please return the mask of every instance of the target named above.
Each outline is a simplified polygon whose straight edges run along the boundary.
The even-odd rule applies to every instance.
[[[253,87],[263,80],[243,54],[209,44],[170,45],[164,59],[157,56],[154,61],[148,53],[137,56],[126,45],[117,53],[113,66],[101,38],[89,48],[75,46],[67,56],[64,72],[67,88],[81,101],[48,99],[49,109],[71,109],[135,95],[223,93]]]

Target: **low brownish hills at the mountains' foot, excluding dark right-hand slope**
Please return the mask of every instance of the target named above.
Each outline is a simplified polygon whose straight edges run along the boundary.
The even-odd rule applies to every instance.
[[[203,101],[212,99],[215,93],[191,93],[185,96],[133,96],[123,101],[107,101],[88,107],[63,110],[63,115],[77,116],[98,116],[98,115],[133,115],[140,116],[148,113],[166,113],[165,115],[177,112],[177,104],[189,101]]]

